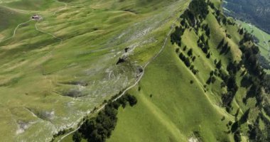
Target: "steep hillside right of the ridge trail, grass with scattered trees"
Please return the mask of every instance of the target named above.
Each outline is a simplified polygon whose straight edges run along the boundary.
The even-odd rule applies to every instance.
[[[212,2],[217,7],[220,5],[218,1]],[[217,10],[210,6],[208,9],[210,13],[202,24],[191,28],[190,25],[185,26],[189,28],[183,30],[183,35],[179,33],[181,42],[178,45],[168,42],[161,55],[146,68],[139,85],[129,92],[138,98],[138,104],[119,110],[117,126],[109,142],[269,141],[268,98],[259,88],[258,92],[254,92],[254,86],[247,83],[247,77],[254,75],[248,64],[233,69],[237,67],[234,65],[242,64],[240,60],[250,62],[244,61],[243,55],[247,57],[247,53],[239,48],[244,47],[239,43],[243,38],[238,33],[241,27],[228,23],[229,19],[226,23],[222,22],[224,16],[217,16]],[[178,26],[183,27],[180,21]],[[203,23],[210,28],[209,38],[205,33],[207,30],[201,28]],[[201,49],[196,43],[204,33],[209,42],[206,53],[202,50],[203,46]],[[222,39],[223,44],[228,43],[229,46],[229,50],[223,46],[223,53],[220,47]],[[250,43],[244,45],[252,48]],[[188,63],[182,60],[189,58],[191,48],[191,64],[187,66]],[[210,57],[207,57],[208,52]],[[195,61],[191,61],[193,56]],[[221,60],[220,69],[215,60]],[[232,63],[234,60],[239,63]],[[197,74],[192,72],[193,68],[198,70]],[[225,81],[217,70],[234,76],[234,79]],[[211,76],[212,79],[209,79]],[[207,83],[207,80],[210,82]],[[261,97],[265,102],[261,101]]]

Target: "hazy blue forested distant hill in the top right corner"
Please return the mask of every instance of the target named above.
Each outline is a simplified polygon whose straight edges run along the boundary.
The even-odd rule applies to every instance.
[[[267,33],[270,33],[270,1],[269,0],[226,0],[225,13],[242,21],[249,21]]]

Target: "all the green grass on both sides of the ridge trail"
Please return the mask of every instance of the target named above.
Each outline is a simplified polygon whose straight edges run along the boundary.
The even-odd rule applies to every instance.
[[[2,2],[7,23],[0,21],[0,38],[10,37],[32,14],[43,20],[19,26],[13,38],[0,42],[4,116],[0,137],[2,141],[50,141],[53,134],[75,127],[87,111],[133,84],[138,67],[158,53],[173,21],[190,1],[62,1],[67,6],[53,0]],[[229,60],[239,60],[241,37],[235,26],[220,27],[211,13],[205,23],[211,28],[210,59],[195,43],[194,31],[183,35],[183,45],[193,48],[197,58],[193,65],[198,75],[185,67],[175,53],[176,45],[168,40],[163,53],[146,68],[141,91],[138,87],[130,91],[139,104],[120,109],[119,123],[108,141],[187,141],[198,134],[203,141],[232,141],[232,134],[225,132],[234,116],[220,107],[222,81],[203,86],[215,70],[215,59],[222,60],[222,70]],[[225,30],[231,39],[225,38]],[[216,49],[222,38],[232,47],[227,55]],[[187,55],[183,47],[180,51]],[[126,55],[127,61],[116,65]],[[245,91],[241,88],[237,94],[233,112],[254,105],[252,100],[248,107],[242,104]]]

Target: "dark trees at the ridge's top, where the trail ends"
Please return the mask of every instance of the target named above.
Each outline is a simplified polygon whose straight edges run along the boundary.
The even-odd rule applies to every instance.
[[[200,21],[203,21],[208,11],[208,4],[212,4],[210,1],[205,2],[205,0],[193,0],[190,2],[189,9],[187,9],[180,18],[183,18],[182,21],[180,21],[180,27],[175,27],[175,31],[171,34],[171,43],[176,43],[179,47],[181,46],[181,36],[185,32],[186,28],[189,28],[192,26],[195,31],[198,33],[198,28],[200,28]],[[214,4],[212,4],[212,7],[215,7]],[[195,27],[197,26],[197,27]],[[202,29],[205,31],[205,35],[207,37],[210,37],[210,27],[207,24],[202,24]],[[209,44],[208,40],[205,40],[204,34],[200,36],[200,39],[198,40],[198,45],[200,48],[202,48],[203,52],[206,55],[207,58],[210,58],[211,53],[209,52]],[[179,48],[175,50],[176,53],[179,53]],[[183,51],[186,50],[186,46],[183,48]],[[193,56],[193,49],[188,50],[188,56],[185,57],[183,53],[180,53],[179,58],[182,60],[187,67],[190,67],[190,70],[193,72],[194,75],[198,73],[198,70],[195,69],[194,65],[192,65],[192,62],[195,61],[196,57]],[[215,79],[213,79],[215,80]]]

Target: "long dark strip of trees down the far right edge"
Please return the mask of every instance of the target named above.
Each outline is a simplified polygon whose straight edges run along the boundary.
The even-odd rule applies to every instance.
[[[254,38],[251,34],[244,32],[243,29],[239,30],[239,34],[244,37],[240,40],[240,50],[242,50],[242,60],[239,62],[240,65],[244,65],[247,71],[243,72],[242,82],[244,82],[244,87],[249,88],[246,98],[243,99],[243,102],[246,103],[249,97],[255,97],[257,99],[257,106],[259,109],[264,109],[266,115],[270,115],[270,106],[262,105],[263,93],[262,87],[265,88],[266,92],[269,92],[270,88],[270,76],[266,75],[263,68],[259,64],[258,53],[259,48],[256,45],[247,46],[248,43],[254,43]],[[268,86],[268,87],[267,87]],[[268,89],[267,89],[268,88]],[[264,130],[260,129],[259,120],[264,122]],[[251,141],[270,141],[270,121],[265,118],[264,114],[259,112],[259,116],[254,124],[249,124],[249,139]]]

